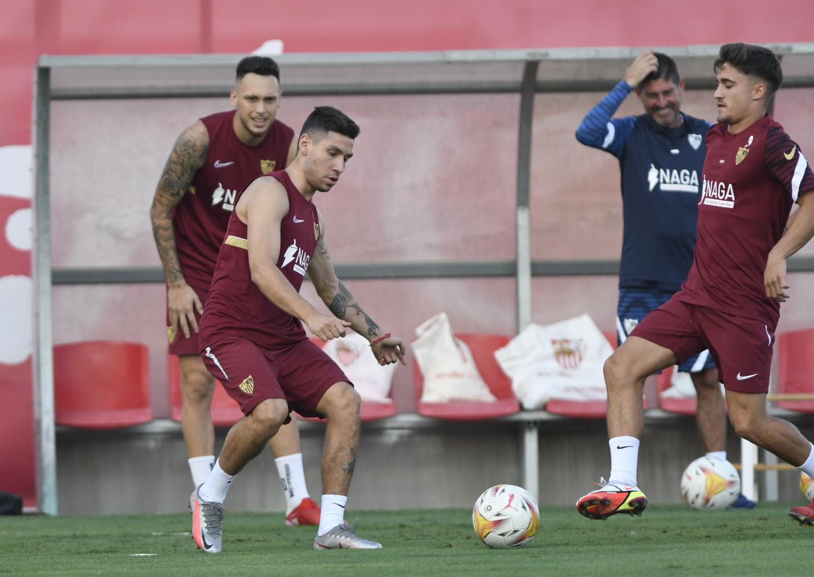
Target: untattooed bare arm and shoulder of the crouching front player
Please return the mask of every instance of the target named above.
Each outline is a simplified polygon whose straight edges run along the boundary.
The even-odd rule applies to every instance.
[[[288,212],[288,195],[274,177],[261,177],[243,192],[238,216],[247,225],[249,269],[252,282],[267,299],[308,325],[309,330],[326,341],[344,336],[350,323],[323,315],[295,291],[294,286],[277,268],[280,257],[280,226]]]

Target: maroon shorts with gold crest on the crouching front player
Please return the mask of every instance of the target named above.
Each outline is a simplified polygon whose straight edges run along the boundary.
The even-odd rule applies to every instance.
[[[337,382],[348,382],[330,356],[309,340],[282,349],[257,346],[247,339],[229,337],[200,352],[204,365],[244,415],[266,399],[285,399],[303,417],[317,414],[317,403]]]

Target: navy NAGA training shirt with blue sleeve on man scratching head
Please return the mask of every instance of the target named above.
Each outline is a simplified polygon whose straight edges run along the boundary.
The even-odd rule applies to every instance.
[[[678,291],[693,264],[711,125],[686,114],[675,129],[646,114],[611,118],[631,90],[619,81],[584,117],[576,139],[619,159],[624,214],[619,286]]]

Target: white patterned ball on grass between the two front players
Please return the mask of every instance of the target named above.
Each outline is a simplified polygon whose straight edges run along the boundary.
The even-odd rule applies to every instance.
[[[472,525],[492,549],[523,547],[537,534],[540,509],[523,487],[495,485],[475,501]]]

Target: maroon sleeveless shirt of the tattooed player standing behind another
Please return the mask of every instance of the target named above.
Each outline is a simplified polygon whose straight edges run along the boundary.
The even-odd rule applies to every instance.
[[[263,173],[286,167],[294,130],[279,120],[260,144],[250,146],[234,133],[235,111],[200,119],[209,133],[204,165],[173,211],[173,231],[181,272],[204,295],[212,282],[217,253],[243,187]]]

